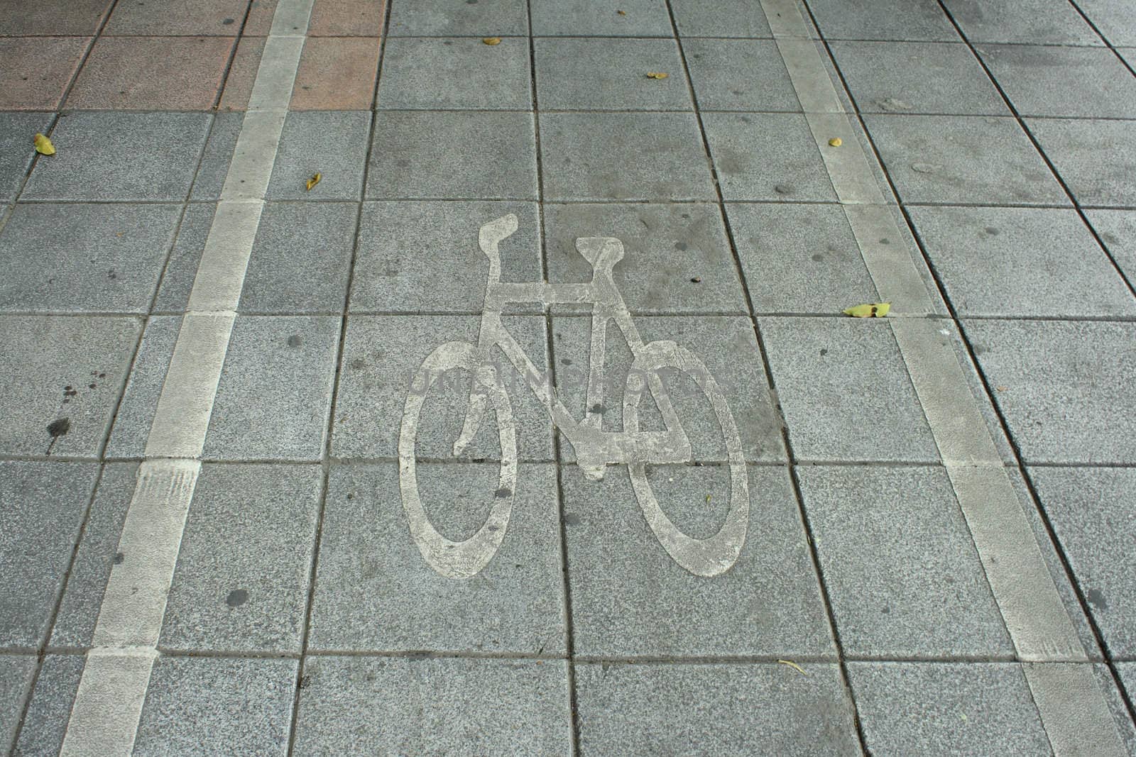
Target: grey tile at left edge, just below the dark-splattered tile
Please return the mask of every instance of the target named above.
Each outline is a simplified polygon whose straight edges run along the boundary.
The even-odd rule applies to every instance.
[[[98,472],[0,461],[0,647],[35,651],[45,640]]]

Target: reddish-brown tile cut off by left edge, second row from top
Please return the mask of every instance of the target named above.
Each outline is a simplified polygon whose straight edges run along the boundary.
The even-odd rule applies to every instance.
[[[0,37],[0,110],[56,110],[89,36]]]

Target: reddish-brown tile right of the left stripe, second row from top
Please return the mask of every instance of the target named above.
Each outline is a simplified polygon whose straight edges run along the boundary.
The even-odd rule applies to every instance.
[[[377,66],[376,37],[308,37],[292,90],[292,109],[369,109]]]

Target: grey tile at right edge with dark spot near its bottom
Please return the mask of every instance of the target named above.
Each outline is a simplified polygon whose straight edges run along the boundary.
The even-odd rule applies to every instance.
[[[1112,657],[1136,657],[1136,470],[1033,468],[1030,478]]]

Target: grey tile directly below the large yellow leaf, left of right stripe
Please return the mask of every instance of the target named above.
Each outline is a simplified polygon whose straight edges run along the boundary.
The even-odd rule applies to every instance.
[[[762,318],[759,328],[800,460],[938,462],[886,321]]]

